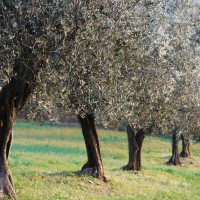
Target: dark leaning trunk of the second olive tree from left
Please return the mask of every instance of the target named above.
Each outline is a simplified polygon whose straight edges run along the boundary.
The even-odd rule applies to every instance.
[[[87,114],[85,118],[79,115],[78,119],[82,127],[88,157],[81,172],[106,182],[94,117],[92,114]]]

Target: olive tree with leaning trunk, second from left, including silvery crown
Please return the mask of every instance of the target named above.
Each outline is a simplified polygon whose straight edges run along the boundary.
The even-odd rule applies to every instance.
[[[88,154],[82,172],[105,181],[94,117],[106,122],[113,113],[119,114],[113,110],[112,99],[119,95],[114,81],[119,81],[121,76],[119,83],[125,81],[128,85],[130,77],[126,70],[137,71],[137,65],[143,62],[139,55],[144,54],[145,35],[150,27],[146,16],[154,7],[149,7],[145,1],[83,5],[82,18],[87,23],[82,24],[76,35],[74,56],[66,58],[66,70],[56,68],[51,70],[51,76],[40,74],[43,84],[37,90],[45,101],[37,101],[38,92],[31,99],[35,107],[46,107],[49,111],[56,107],[78,115]],[[128,76],[123,80],[119,72]],[[135,73],[134,77],[137,75]]]

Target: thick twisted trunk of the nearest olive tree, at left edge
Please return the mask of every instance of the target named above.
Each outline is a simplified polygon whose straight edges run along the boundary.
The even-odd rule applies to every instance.
[[[27,54],[28,52],[22,56],[27,57]],[[13,69],[15,76],[0,92],[0,199],[4,196],[10,199],[16,198],[12,176],[8,169],[8,156],[16,114],[23,108],[34,88],[35,74],[29,68],[31,64],[17,60]]]

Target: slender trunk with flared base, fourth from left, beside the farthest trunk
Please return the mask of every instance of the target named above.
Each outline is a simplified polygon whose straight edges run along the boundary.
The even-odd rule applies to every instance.
[[[172,157],[167,163],[175,166],[181,165],[178,154],[178,133],[176,131],[172,134]]]

